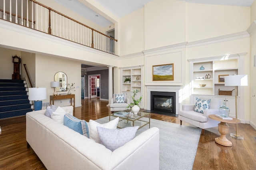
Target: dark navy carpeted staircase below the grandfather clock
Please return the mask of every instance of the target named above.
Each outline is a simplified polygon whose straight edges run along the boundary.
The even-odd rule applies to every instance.
[[[24,80],[0,79],[0,119],[32,111]]]

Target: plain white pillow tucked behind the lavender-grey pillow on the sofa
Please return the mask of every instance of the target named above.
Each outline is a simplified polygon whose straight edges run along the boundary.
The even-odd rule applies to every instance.
[[[100,136],[98,134],[98,130],[97,127],[104,127],[104,128],[110,128],[110,129],[116,129],[117,124],[119,122],[119,117],[117,117],[116,119],[108,122],[108,123],[104,123],[104,124],[100,124],[94,120],[90,120],[89,121],[89,136],[90,139],[94,140],[97,143],[100,143]]]

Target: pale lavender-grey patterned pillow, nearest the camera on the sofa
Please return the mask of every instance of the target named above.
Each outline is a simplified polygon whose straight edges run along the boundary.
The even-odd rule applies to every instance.
[[[123,146],[135,137],[139,127],[109,129],[97,127],[102,144],[111,151]]]

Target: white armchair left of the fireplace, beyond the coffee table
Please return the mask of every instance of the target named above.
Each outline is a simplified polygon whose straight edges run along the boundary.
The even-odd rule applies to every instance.
[[[110,111],[113,113],[114,111],[123,111],[126,110],[128,105],[130,104],[130,98],[124,94],[124,103],[116,102],[116,94],[113,94],[113,98],[110,99]]]

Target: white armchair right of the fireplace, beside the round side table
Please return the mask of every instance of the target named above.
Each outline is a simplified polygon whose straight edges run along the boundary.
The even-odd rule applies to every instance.
[[[203,98],[202,98],[203,99]],[[218,127],[219,121],[214,121],[208,117],[208,115],[218,115],[220,107],[219,99],[211,99],[210,108],[205,109],[204,113],[198,113],[194,111],[195,105],[182,105],[182,110],[178,111],[178,118],[180,119],[180,125],[182,121],[190,123],[196,127],[202,129],[202,135],[204,135],[205,128]]]

